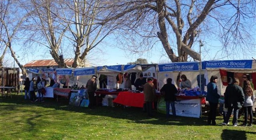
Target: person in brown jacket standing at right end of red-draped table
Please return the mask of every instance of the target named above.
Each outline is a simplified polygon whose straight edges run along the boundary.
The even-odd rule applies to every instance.
[[[147,108],[147,112],[148,112],[148,116],[152,117],[152,103],[155,99],[155,86],[153,84],[153,79],[152,78],[148,78],[147,83],[145,83],[144,85],[144,101],[146,103],[146,108]]]

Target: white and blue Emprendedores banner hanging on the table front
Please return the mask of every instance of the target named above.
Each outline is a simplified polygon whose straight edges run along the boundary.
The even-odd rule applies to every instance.
[[[201,112],[200,102],[200,98],[175,101],[176,115],[199,118]],[[170,114],[172,114],[171,111]]]

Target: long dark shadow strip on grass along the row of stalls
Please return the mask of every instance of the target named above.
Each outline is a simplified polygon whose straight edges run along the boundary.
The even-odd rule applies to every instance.
[[[71,112],[85,113],[89,115],[98,115],[119,119],[126,119],[128,123],[145,123],[145,124],[158,124],[158,125],[179,125],[179,126],[204,126],[206,124],[206,117],[202,118],[191,118],[191,117],[170,117],[166,118],[165,114],[157,113],[154,110],[154,117],[149,118],[147,113],[142,112],[142,108],[138,107],[126,107],[116,106],[116,107],[102,107],[97,106],[95,109],[91,110],[87,107],[74,107],[69,106],[69,101],[67,99],[60,99],[58,102],[53,98],[45,98],[45,102],[35,102],[30,103],[29,100],[24,100],[23,96],[15,95],[12,99],[10,98],[0,98],[0,102],[11,103],[10,105],[1,105],[1,109],[5,110],[19,110],[20,106],[38,106],[45,108],[54,108],[55,110],[67,110]],[[25,110],[26,111],[26,110]],[[21,112],[25,112],[24,110]],[[39,110],[40,113],[41,110]],[[46,110],[53,111],[53,110]],[[51,114],[51,113],[49,113]],[[45,114],[48,115],[48,114]],[[27,115],[26,115],[27,116]],[[94,117],[92,117],[92,120]],[[33,124],[31,124],[33,126]]]

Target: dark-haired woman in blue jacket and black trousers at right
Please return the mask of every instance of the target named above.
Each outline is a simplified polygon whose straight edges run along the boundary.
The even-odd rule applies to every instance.
[[[217,79],[218,77],[216,75],[211,76],[210,82],[207,85],[206,101],[210,104],[210,112],[207,120],[208,125],[216,125],[216,110],[220,98],[216,85]]]

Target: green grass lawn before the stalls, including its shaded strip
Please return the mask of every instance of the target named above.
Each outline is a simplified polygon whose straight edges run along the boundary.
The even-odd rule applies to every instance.
[[[67,99],[30,103],[21,95],[0,98],[0,140],[255,140],[253,127],[207,126],[207,117],[149,118],[141,108],[72,107]],[[254,117],[254,120],[256,118]],[[243,117],[239,119],[239,124]]]

